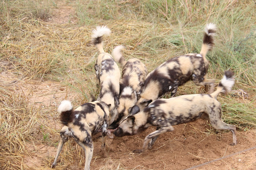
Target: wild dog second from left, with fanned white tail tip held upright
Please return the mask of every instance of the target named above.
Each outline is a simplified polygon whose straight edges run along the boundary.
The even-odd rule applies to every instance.
[[[100,85],[99,100],[110,105],[110,125],[118,116],[117,106],[119,104],[121,73],[113,57],[109,53],[105,53],[103,49],[103,36],[109,36],[111,31],[106,26],[98,26],[92,33],[92,42],[100,51],[94,66]]]

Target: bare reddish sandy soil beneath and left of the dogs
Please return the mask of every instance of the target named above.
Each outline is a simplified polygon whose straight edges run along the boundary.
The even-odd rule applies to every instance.
[[[16,86],[17,89],[19,89],[18,87],[22,88],[30,104],[41,108],[55,106],[57,108],[58,103],[67,94],[66,87],[54,82],[18,82]],[[68,93],[69,99],[74,99],[75,97],[72,93]],[[56,117],[57,119],[58,117]],[[50,121],[47,126],[59,132],[61,125],[56,120]],[[149,150],[147,154],[134,154],[132,151],[142,148],[144,138],[147,134],[153,132],[155,127],[149,127],[146,131],[135,136],[108,137],[106,140],[107,158],[99,156],[102,140],[101,138],[96,138],[94,140],[91,169],[116,169],[118,166],[129,170],[186,169],[236,152],[238,153],[233,156],[205,164],[197,169],[256,169],[256,148],[239,153],[239,151],[256,146],[256,130],[238,130],[238,144],[230,146],[230,143],[232,143],[231,132],[218,132],[216,134],[210,125],[203,120],[177,125],[174,128],[173,132],[166,132],[160,135],[152,150]],[[58,141],[60,136],[52,136],[50,139]],[[80,150],[80,146],[76,145],[74,140],[71,144],[74,154],[82,154],[82,159],[70,162],[68,169],[82,170],[85,162],[84,152]],[[35,144],[35,146],[27,146],[26,150],[34,151],[35,156],[32,157],[32,160],[25,158],[24,162],[31,167],[50,168],[50,164],[52,164],[56,155],[57,147],[39,143]],[[61,160],[65,157],[64,155],[65,153],[62,151],[56,168],[61,164]],[[47,164],[46,162],[48,161],[46,160],[50,161],[50,164]]]

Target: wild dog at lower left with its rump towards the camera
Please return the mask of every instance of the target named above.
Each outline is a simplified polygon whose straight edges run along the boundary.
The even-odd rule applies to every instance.
[[[108,128],[108,105],[102,101],[85,103],[75,110],[70,101],[62,101],[58,107],[60,120],[64,127],[60,130],[60,144],[52,168],[56,166],[62,146],[72,136],[85,152],[85,170],[90,169],[93,154],[92,135],[102,130],[101,156],[106,157],[105,140]]]

